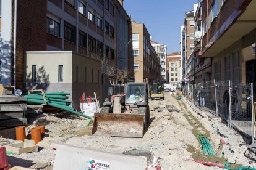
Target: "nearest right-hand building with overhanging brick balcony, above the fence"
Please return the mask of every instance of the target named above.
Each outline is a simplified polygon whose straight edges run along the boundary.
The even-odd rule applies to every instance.
[[[254,83],[256,1],[202,1],[200,59],[211,58],[211,79]],[[255,95],[255,94],[254,94]]]

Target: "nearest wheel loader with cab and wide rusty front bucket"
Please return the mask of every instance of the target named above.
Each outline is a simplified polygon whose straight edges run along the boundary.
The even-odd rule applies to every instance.
[[[147,83],[127,83],[125,93],[106,100],[95,113],[92,136],[143,137],[150,123]]]

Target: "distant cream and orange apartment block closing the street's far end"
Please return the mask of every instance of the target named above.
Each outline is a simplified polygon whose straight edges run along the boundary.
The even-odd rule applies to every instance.
[[[178,52],[173,52],[172,54],[167,55],[168,61],[168,72],[169,72],[169,83],[181,83],[181,54]]]

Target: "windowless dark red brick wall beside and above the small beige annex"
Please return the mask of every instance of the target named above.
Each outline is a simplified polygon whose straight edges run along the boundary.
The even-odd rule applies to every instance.
[[[16,86],[25,89],[25,52],[46,51],[47,0],[17,1]]]

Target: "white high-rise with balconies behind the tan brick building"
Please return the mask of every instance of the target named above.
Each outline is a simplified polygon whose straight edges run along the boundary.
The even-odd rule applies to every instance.
[[[168,80],[168,78],[167,78],[167,62],[166,62],[167,46],[164,44],[159,44],[158,42],[155,42],[155,41],[150,41],[150,43],[154,47],[154,49],[160,59],[160,65],[162,67],[162,69],[161,69],[162,81],[167,81]]]

